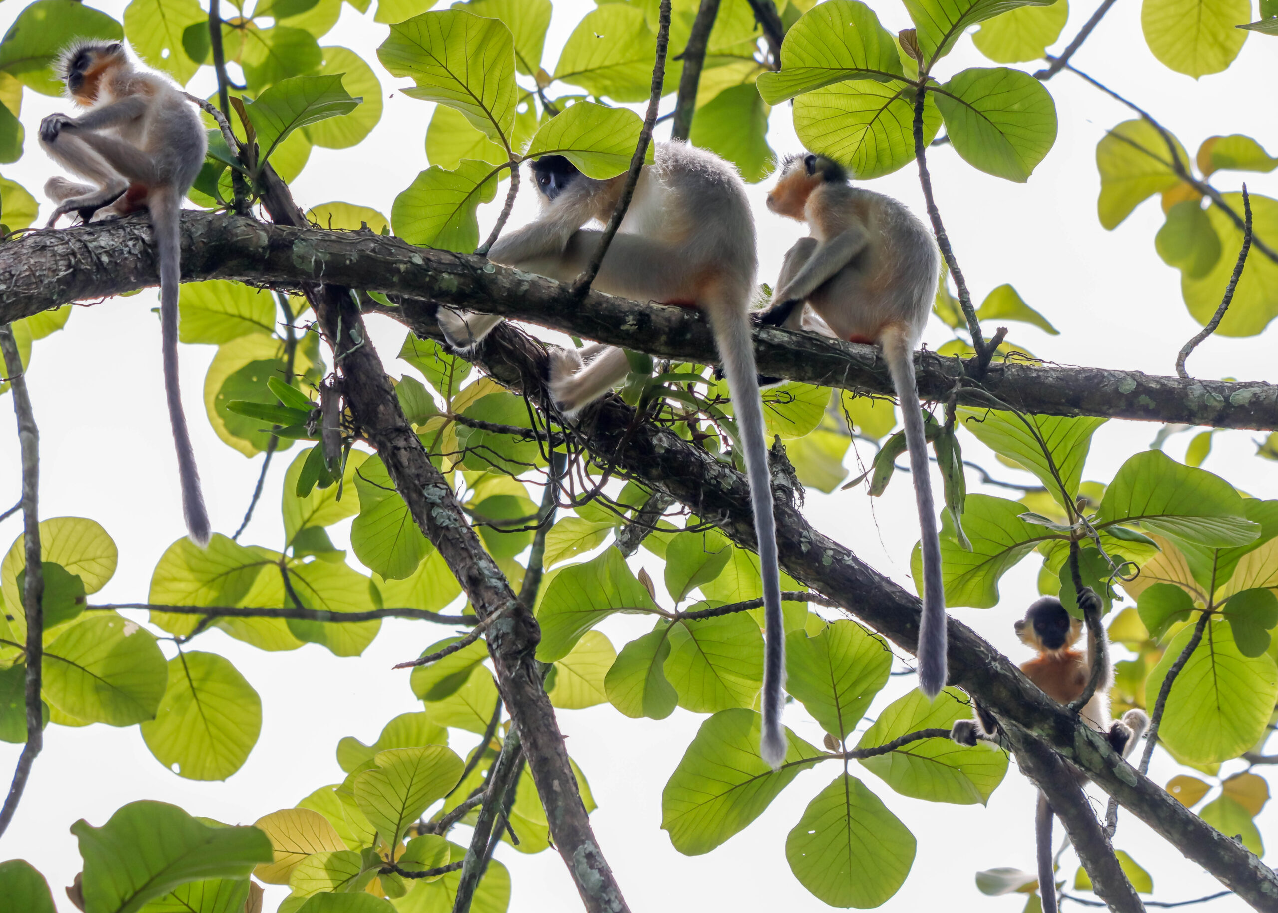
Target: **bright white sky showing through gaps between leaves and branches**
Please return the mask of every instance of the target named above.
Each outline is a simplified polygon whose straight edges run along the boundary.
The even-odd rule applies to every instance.
[[[124,4],[119,0],[97,5],[116,19],[123,15]],[[0,26],[8,28],[23,6],[22,3],[0,6]],[[889,31],[909,27],[900,4],[873,6]],[[1077,32],[1094,8],[1085,4],[1071,10],[1058,47]],[[551,64],[573,26],[589,9],[592,4],[587,0],[556,1],[543,58],[548,70],[553,69]],[[337,27],[321,40],[322,45],[340,43],[358,51],[377,69],[383,95],[391,97],[380,125],[362,144],[313,151],[305,171],[293,184],[303,206],[344,199],[374,206],[389,215],[395,196],[427,166],[423,141],[433,106],[399,95],[395,90],[400,81],[377,64],[374,49],[386,35],[387,27],[373,23],[372,14],[360,17],[345,6]],[[1229,70],[1195,82],[1154,60],[1140,35],[1137,4],[1127,0],[1109,12],[1075,63],[1145,106],[1191,152],[1208,136],[1229,133],[1246,133],[1275,152],[1278,123],[1261,88],[1272,86],[1275,55],[1278,40],[1252,35]],[[964,40],[938,75],[944,79],[969,65],[992,64]],[[1034,64],[1024,68],[1036,69]],[[188,88],[207,95],[212,87],[212,73],[206,68]],[[1113,233],[1104,231],[1097,221],[1095,144],[1105,128],[1128,119],[1130,114],[1068,73],[1053,79],[1051,91],[1059,133],[1056,147],[1028,184],[982,174],[958,160],[951,148],[937,148],[929,155],[938,205],[973,295],[979,302],[994,286],[1015,284],[1030,306],[1062,331],[1052,338],[1034,327],[1012,325],[1012,341],[1039,357],[1171,373],[1176,352],[1197,326],[1181,300],[1178,274],[1154,252],[1153,237],[1162,225],[1162,212],[1157,202],[1149,201]],[[666,102],[672,104],[672,98]],[[33,137],[42,116],[63,107],[64,102],[56,98],[27,92],[22,120],[28,137]],[[772,118],[769,142],[778,153],[799,148],[785,106]],[[35,146],[31,139],[26,156],[0,171],[40,197],[51,164]],[[1233,191],[1243,178],[1252,192],[1278,196],[1274,174],[1223,171],[1213,179],[1220,189]],[[797,224],[764,210],[767,185],[764,182],[753,188],[751,198],[758,217],[760,279],[772,281],[782,253],[800,231]],[[921,212],[912,165],[870,185]],[[520,224],[530,211],[532,201],[521,196],[511,224]],[[496,206],[486,207],[481,212],[481,229],[487,231],[495,217]],[[158,325],[151,313],[156,304],[152,289],[77,309],[68,331],[36,345],[29,373],[41,427],[42,517],[91,517],[107,528],[120,547],[115,578],[95,597],[102,601],[143,600],[156,560],[184,532],[161,395]],[[392,355],[405,331],[377,317],[369,327],[389,370],[396,376],[404,373],[406,366],[394,362]],[[948,331],[933,321],[925,341],[935,348],[947,339]],[[1273,341],[1273,331],[1252,339],[1212,339],[1194,354],[1190,370],[1201,377],[1275,382]],[[183,347],[183,378],[213,524],[230,533],[247,506],[261,458],[250,462],[231,451],[203,418],[201,390],[213,353],[212,347]],[[4,504],[17,500],[20,473],[17,435],[9,416],[9,405],[0,403],[0,478],[8,480],[0,486]],[[1108,481],[1127,456],[1148,446],[1157,430],[1158,426],[1135,422],[1111,422],[1100,428],[1085,478]],[[1217,435],[1205,468],[1256,496],[1278,496],[1278,468],[1252,456],[1254,440],[1260,436],[1240,431]],[[1190,437],[1172,439],[1168,451],[1183,456]],[[964,446],[970,460],[1002,478],[1015,478],[1016,473],[998,465],[970,437]],[[293,455],[294,451],[285,453],[271,467],[266,494],[243,541],[280,546],[280,482]],[[849,465],[855,468],[851,456]],[[983,491],[975,473],[969,476],[969,486],[970,491]],[[1007,494],[999,488],[987,492]],[[866,501],[860,491],[831,496],[810,492],[806,515],[861,559],[902,586],[911,586],[907,555],[918,531],[905,478],[897,480],[877,503]],[[20,529],[19,517],[5,520],[0,526],[3,545],[8,547]],[[348,535],[349,522],[334,529],[340,546]],[[644,561],[654,570],[659,565],[640,550],[634,564]],[[1038,565],[1030,559],[1007,574],[1001,586],[1003,606],[952,610],[1015,661],[1026,656],[1012,637],[1011,625],[1036,596]],[[659,579],[661,574],[654,577]],[[617,618],[602,630],[620,648],[648,627],[639,619]],[[225,784],[194,783],[162,767],[135,726],[50,726],[27,795],[0,841],[0,858],[20,855],[31,861],[49,878],[59,908],[70,910],[61,886],[70,884],[81,861],[68,827],[81,817],[101,825],[118,807],[134,799],[173,802],[193,815],[236,823],[250,823],[267,812],[291,807],[313,789],[341,780],[334,754],[341,737],[372,742],[392,716],[420,708],[408,688],[406,674],[392,673],[390,666],[417,656],[423,646],[446,633],[420,623],[387,620],[363,657],[346,660],[314,644],[289,653],[263,653],[217,630],[203,636],[197,648],[229,657],[262,697],[262,737],[244,767]],[[1122,652],[1118,651],[1117,659],[1122,659]],[[912,679],[893,679],[868,719],[909,687]],[[790,873],[785,840],[806,803],[836,776],[833,765],[799,775],[749,829],[717,850],[690,858],[671,847],[661,830],[661,790],[702,719],[679,710],[662,722],[633,721],[607,705],[558,714],[569,751],[585,771],[599,803],[592,816],[596,835],[631,909],[659,905],[785,908],[794,913],[828,909]],[[787,711],[787,722],[803,738],[819,743],[819,728],[799,705]],[[464,754],[475,737],[455,730],[452,742]],[[0,776],[5,783],[18,752],[18,745],[0,744]],[[1227,767],[1226,772],[1238,766]],[[953,910],[1020,910],[1022,896],[988,899],[976,891],[973,880],[978,870],[994,866],[1034,867],[1033,792],[1015,767],[988,808],[906,799],[858,765],[852,765],[851,772],[905,821],[919,841],[909,880],[884,909],[912,910],[943,903]],[[1155,780],[1164,783],[1174,772],[1166,754],[1155,754],[1151,771]],[[1272,806],[1261,812],[1258,825],[1265,843],[1278,845],[1278,812]],[[458,829],[455,838],[464,843],[468,834],[466,829]],[[1122,815],[1116,844],[1153,873],[1153,898],[1158,900],[1183,900],[1219,890],[1210,876],[1187,863],[1131,815]],[[497,853],[511,867],[511,909],[532,913],[579,908],[575,890],[553,852],[527,857],[502,845]],[[1066,864],[1072,876],[1068,857]],[[284,895],[285,889],[268,887],[267,909],[273,909]],[[674,898],[679,900],[672,901]],[[1217,913],[1247,908],[1241,900],[1228,898],[1204,909]]]

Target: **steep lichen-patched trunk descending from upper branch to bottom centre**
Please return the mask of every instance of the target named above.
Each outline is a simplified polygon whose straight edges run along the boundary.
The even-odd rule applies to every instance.
[[[267,175],[263,205],[276,221],[302,222],[288,188]],[[243,228],[280,230],[247,219]],[[350,233],[362,237],[360,233]],[[188,256],[185,246],[183,258]],[[299,266],[304,260],[299,261]],[[313,266],[313,265],[312,265]],[[305,270],[299,270],[305,274]],[[318,279],[320,276],[316,276]],[[533,772],[555,848],[564,858],[581,903],[590,913],[626,910],[621,889],[594,840],[576,776],[569,763],[542,675],[533,659],[541,629],[510,582],[484,550],[447,481],[404,418],[399,396],[364,329],[363,315],[344,285],[303,283],[303,290],[334,347],[346,405],[408,504],[413,519],[440,550],[481,620],[498,615],[487,630],[497,687],[510,711]]]

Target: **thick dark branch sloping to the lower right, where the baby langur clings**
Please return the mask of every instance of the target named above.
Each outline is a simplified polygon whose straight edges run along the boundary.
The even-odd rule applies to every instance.
[[[438,334],[433,320],[414,322],[410,313],[404,307],[399,316],[422,335]],[[498,382],[543,402],[546,358],[539,343],[507,325],[489,334],[477,362]],[[739,545],[754,547],[745,477],[712,454],[672,431],[647,422],[634,425],[633,410],[616,398],[588,410],[578,431],[596,458],[613,464],[619,474],[652,491],[665,491],[698,517],[717,523]],[[912,653],[919,598],[814,529],[786,499],[777,499],[776,508],[786,573],[837,598],[847,611]],[[999,720],[1015,721],[1025,738],[1045,742],[1247,903],[1266,909],[1278,901],[1278,873],[1139,774],[1102,733],[1047,697],[970,628],[952,618],[948,627],[951,684],[962,687]]]

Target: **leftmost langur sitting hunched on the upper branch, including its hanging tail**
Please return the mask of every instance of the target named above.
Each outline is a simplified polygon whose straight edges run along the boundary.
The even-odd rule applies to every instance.
[[[165,77],[134,66],[119,43],[83,42],[59,63],[66,95],[88,109],[79,118],[51,114],[40,144],[60,165],[88,180],[50,178],[45,193],[58,203],[52,228],[77,212],[97,221],[146,210],[160,261],[160,334],[165,395],[178,449],[181,504],[190,538],[208,543],[208,513],[178,389],[178,283],[181,277],[178,220],[181,198],[204,161],[204,128],[196,109]]]

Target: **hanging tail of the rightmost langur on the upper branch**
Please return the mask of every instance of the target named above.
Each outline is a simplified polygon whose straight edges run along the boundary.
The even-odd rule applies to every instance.
[[[932,473],[928,442],[923,432],[919,387],[914,380],[914,350],[905,327],[888,327],[882,334],[883,355],[896,398],[901,403],[905,445],[910,453],[910,476],[919,505],[919,538],[923,549],[923,621],[919,625],[919,691],[929,698],[941,693],[948,679],[946,665],[946,593],[941,578],[941,540],[937,536],[937,509],[932,503]]]

